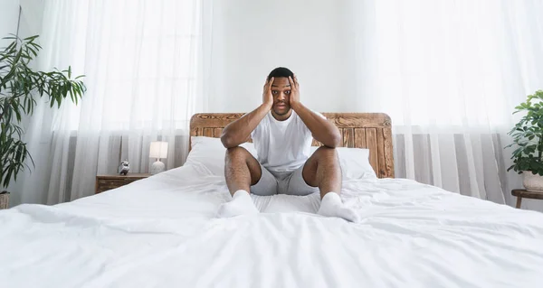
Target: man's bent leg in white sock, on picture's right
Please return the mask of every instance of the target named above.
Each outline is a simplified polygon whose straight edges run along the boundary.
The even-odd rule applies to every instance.
[[[319,187],[320,208],[317,212],[328,217],[344,218],[351,222],[358,219],[353,209],[343,205],[341,193],[341,166],[338,152],[329,147],[319,147],[303,167],[303,179],[310,186]]]

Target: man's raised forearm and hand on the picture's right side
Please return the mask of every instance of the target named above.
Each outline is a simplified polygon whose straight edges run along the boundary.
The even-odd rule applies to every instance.
[[[289,77],[291,82],[291,108],[300,116],[301,121],[308,126],[315,138],[320,143],[330,148],[336,148],[341,143],[341,134],[336,125],[313,113],[310,109],[300,103],[300,84],[298,79]]]

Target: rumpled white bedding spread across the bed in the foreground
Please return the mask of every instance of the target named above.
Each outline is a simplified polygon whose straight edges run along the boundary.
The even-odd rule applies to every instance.
[[[224,179],[186,166],[57,206],[0,211],[1,287],[543,287],[543,214],[407,180],[344,183],[214,218]]]

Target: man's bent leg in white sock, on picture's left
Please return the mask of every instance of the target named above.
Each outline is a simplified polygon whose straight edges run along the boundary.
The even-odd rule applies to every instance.
[[[256,184],[261,175],[260,163],[247,150],[239,146],[226,150],[224,177],[232,200],[219,207],[218,216],[225,218],[258,213],[249,193],[251,185]]]

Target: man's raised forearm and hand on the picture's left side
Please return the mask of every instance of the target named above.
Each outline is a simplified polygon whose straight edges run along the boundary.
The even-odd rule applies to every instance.
[[[264,92],[262,93],[262,105],[260,107],[257,107],[252,110],[251,113],[244,115],[224,127],[223,135],[221,135],[221,142],[224,147],[233,148],[239,144],[245,143],[251,137],[252,130],[254,130],[264,116],[270,112],[270,109],[273,106],[273,96],[271,95],[272,83],[273,78],[271,78],[270,81],[266,81]]]

